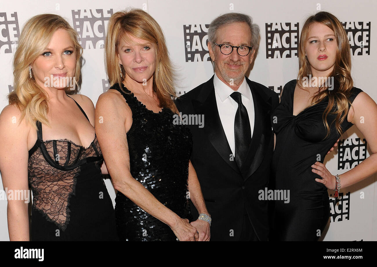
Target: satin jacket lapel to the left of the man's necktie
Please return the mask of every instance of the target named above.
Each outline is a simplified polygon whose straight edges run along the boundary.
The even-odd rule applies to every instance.
[[[204,114],[203,128],[212,146],[233,170],[235,170],[237,173],[240,173],[237,163],[236,161],[234,161],[234,157],[231,157],[232,151],[221,124],[219,111],[216,104],[213,79],[211,79],[210,81],[212,82],[208,83],[208,87],[210,87],[207,88],[210,90],[208,97],[205,99],[204,103],[193,101],[193,107],[196,114]]]

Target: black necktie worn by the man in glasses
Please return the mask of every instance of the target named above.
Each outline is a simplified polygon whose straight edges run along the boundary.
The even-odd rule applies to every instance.
[[[240,169],[251,142],[249,115],[247,114],[246,107],[242,104],[241,96],[242,95],[239,92],[234,92],[230,95],[230,97],[238,104],[236,117],[234,117],[234,141],[236,144],[236,155],[234,158]]]

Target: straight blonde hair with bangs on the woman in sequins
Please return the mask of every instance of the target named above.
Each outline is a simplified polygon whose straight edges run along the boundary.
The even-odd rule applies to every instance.
[[[149,41],[156,48],[156,70],[153,74],[153,91],[159,100],[159,107],[166,107],[175,113],[178,109],[172,100],[175,94],[175,70],[169,58],[164,33],[161,27],[147,12],[141,9],[129,9],[114,13],[107,26],[105,41],[105,69],[110,86],[121,84],[125,77],[123,66],[118,63],[118,47],[127,35]],[[122,88],[120,86],[120,88]]]

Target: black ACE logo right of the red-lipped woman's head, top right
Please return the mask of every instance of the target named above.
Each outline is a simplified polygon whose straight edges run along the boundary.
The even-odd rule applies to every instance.
[[[371,22],[343,22],[352,55],[370,55]]]

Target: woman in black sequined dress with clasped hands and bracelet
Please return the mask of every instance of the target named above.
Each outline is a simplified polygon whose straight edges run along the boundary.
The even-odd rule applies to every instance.
[[[210,224],[190,214],[189,199],[208,212],[190,163],[190,130],[174,123],[173,71],[161,28],[140,9],[116,12],[105,53],[112,86],[97,101],[95,127],[118,190],[120,239],[209,240]]]

